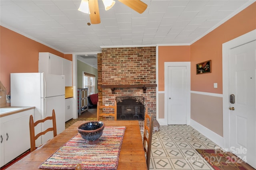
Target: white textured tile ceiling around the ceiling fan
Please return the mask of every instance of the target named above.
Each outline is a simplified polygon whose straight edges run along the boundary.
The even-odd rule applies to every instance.
[[[0,22],[63,53],[101,51],[100,46],[189,44],[228,20],[252,0],[142,0],[139,14],[116,0],[99,0],[100,24],[78,11],[81,0],[1,0]]]

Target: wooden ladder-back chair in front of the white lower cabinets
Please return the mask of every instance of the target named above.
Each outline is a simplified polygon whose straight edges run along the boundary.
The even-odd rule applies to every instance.
[[[52,127],[46,129],[45,131],[42,131],[35,135],[35,126],[39,123],[44,123],[46,120],[52,120]],[[53,131],[53,137],[57,135],[57,128],[56,128],[56,117],[55,117],[55,111],[52,109],[52,116],[46,117],[44,119],[38,120],[34,122],[33,116],[30,115],[29,118],[29,129],[30,129],[30,151],[36,149],[36,139],[40,137],[41,135],[44,135],[46,132]]]

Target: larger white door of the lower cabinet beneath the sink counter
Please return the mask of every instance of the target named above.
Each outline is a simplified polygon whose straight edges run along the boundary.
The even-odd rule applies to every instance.
[[[29,115],[4,123],[4,135],[4,163],[6,164],[30,149]]]

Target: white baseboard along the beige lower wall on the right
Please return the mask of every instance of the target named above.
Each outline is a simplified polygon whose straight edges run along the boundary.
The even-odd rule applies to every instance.
[[[210,129],[204,127],[200,123],[190,119],[190,126],[196,129],[198,132],[202,133],[205,137],[210,139],[212,142],[216,143],[219,147],[224,149],[224,138],[217,133],[211,131]]]

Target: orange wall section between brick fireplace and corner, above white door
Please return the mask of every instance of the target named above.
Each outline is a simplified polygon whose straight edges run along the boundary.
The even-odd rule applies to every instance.
[[[190,46],[158,47],[158,90],[164,91],[164,62],[190,61]]]

